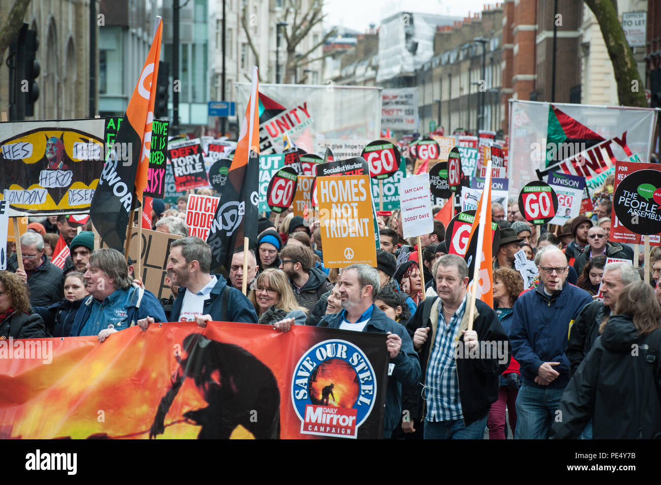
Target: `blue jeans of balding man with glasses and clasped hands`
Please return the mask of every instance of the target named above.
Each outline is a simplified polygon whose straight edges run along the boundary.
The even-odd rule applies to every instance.
[[[516,439],[547,439],[560,407],[562,389],[522,384],[516,397]]]

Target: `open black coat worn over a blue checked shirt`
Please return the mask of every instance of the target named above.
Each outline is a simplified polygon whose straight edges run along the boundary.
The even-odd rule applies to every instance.
[[[416,329],[430,327],[428,339],[418,351],[420,356],[420,368],[422,369],[422,378],[420,385],[417,387],[403,387],[403,400],[402,408],[411,410],[411,417],[418,420],[424,418],[425,409],[424,401],[422,400],[422,384],[425,383],[427,377],[427,366],[429,356],[432,348],[432,342],[436,335],[435,325],[430,319],[432,313],[432,306],[438,300],[436,298],[426,298],[422,304],[418,306],[413,317],[407,325],[408,335],[411,339]],[[468,313],[469,313],[470,295],[467,295],[466,310],[464,317],[459,324],[459,340],[463,342],[462,329],[467,329]],[[512,348],[510,341],[505,333],[496,312],[491,309],[487,304],[476,300],[475,302],[475,319],[473,321],[473,330],[477,332],[477,338],[482,341],[498,342],[500,348],[506,349],[507,362],[499,363],[496,358],[462,358],[457,359],[457,379],[459,380],[459,399],[461,401],[461,410],[463,412],[463,420],[465,426],[469,426],[472,422],[484,418],[488,412],[491,404],[498,399],[498,388],[500,387],[500,374],[505,372],[510,364],[512,358]]]

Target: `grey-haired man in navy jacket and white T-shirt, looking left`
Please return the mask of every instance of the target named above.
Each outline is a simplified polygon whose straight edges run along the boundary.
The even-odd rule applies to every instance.
[[[167,269],[172,282],[179,286],[173,303],[172,321],[196,321],[206,327],[208,321],[257,323],[253,304],[236,288],[227,285],[222,275],[211,275],[211,247],[202,239],[180,238],[170,245]],[[151,317],[138,321],[147,330]]]

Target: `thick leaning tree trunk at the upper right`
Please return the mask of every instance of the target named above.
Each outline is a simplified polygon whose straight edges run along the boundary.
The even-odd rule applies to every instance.
[[[613,63],[617,98],[622,106],[647,107],[636,60],[617,18],[617,0],[585,0],[602,30],[603,42]]]

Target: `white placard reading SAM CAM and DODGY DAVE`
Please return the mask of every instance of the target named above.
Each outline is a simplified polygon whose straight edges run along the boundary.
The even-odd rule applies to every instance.
[[[407,177],[399,183],[402,228],[405,238],[430,234],[434,230],[429,174]]]

